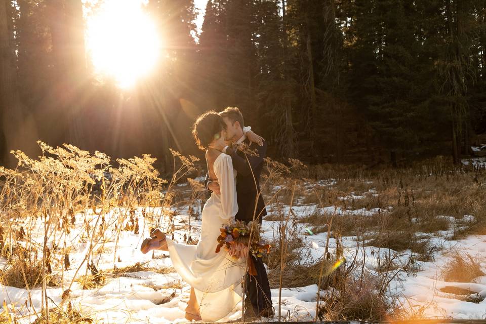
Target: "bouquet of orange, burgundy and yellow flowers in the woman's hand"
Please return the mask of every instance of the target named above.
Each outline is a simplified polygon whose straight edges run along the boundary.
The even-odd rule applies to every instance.
[[[253,233],[250,242],[250,233],[253,227]],[[238,260],[246,257],[250,248],[250,252],[255,257],[261,257],[264,253],[270,253],[270,245],[261,239],[262,232],[260,224],[257,222],[245,222],[235,220],[232,224],[226,225],[219,229],[221,234],[218,236],[218,246],[216,253],[221,251],[221,248],[228,251],[229,255]]]

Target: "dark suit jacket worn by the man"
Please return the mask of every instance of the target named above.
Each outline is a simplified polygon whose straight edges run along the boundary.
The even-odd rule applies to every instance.
[[[247,145],[250,141],[245,141]],[[267,142],[263,141],[263,145],[259,146],[253,144],[250,146],[252,150],[256,150],[258,156],[245,154],[239,150],[228,148],[228,154],[233,160],[233,168],[237,171],[236,175],[236,196],[238,201],[238,213],[235,219],[250,222],[255,220],[262,223],[262,218],[267,215],[265,203],[263,202],[262,194],[258,195],[257,209],[255,212],[255,201],[257,193],[260,192],[260,175],[263,169],[263,159],[267,153]],[[248,157],[248,160],[247,160]],[[253,170],[253,173],[252,173]],[[254,178],[255,177],[255,178]],[[206,174],[205,185],[209,181],[209,175]]]

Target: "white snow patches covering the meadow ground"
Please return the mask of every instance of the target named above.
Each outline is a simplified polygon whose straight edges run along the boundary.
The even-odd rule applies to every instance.
[[[323,181],[324,185],[334,183],[333,181]],[[374,192],[371,192],[374,193]],[[200,213],[200,204],[195,204],[195,213]],[[269,214],[276,206],[269,206]],[[284,207],[284,215],[288,215],[290,208]],[[150,213],[160,214],[160,208],[147,209]],[[386,213],[386,210],[342,210],[333,206],[327,208],[317,208],[315,205],[295,206],[292,207],[293,215],[297,218],[306,215],[320,213],[335,215],[373,215],[374,213]],[[124,214],[124,209],[112,209],[105,216],[107,224],[112,223],[118,214]],[[184,225],[189,222],[187,215],[187,206],[179,209],[180,214],[175,215],[175,239],[182,241],[184,234],[198,237],[198,230],[201,226],[200,220],[191,219],[192,233],[184,229]],[[169,268],[168,273],[157,273],[156,271],[138,271],[126,273],[123,276],[107,275],[107,284],[97,289],[83,290],[77,282],[73,282],[70,290],[72,291],[71,301],[74,307],[79,309],[83,314],[89,315],[104,323],[120,322],[148,322],[148,323],[168,323],[168,322],[186,322],[184,319],[186,302],[189,298],[190,286],[185,284],[172,267],[171,259],[168,253],[155,251],[154,258],[152,253],[143,255],[140,252],[140,244],[144,237],[148,236],[148,221],[142,215],[142,209],[136,210],[136,218],[140,224],[140,233],[134,234],[133,231],[121,231],[119,240],[116,244],[114,231],[107,231],[104,237],[104,244],[98,244],[98,249],[103,245],[103,253],[96,255],[95,264],[97,268],[103,271],[134,265],[136,262],[146,262],[152,269]],[[50,306],[62,305],[61,299],[63,291],[69,288],[69,284],[74,277],[77,267],[85,258],[89,250],[89,238],[85,233],[85,217],[94,226],[97,221],[97,214],[92,211],[86,211],[83,214],[76,215],[76,226],[69,235],[58,237],[58,242],[66,242],[66,246],[72,247],[69,252],[71,267],[63,272],[64,281],[61,287],[49,288],[48,296],[51,299]],[[324,216],[322,216],[324,217]],[[449,217],[449,216],[440,216]],[[127,217],[128,219],[128,217]],[[454,218],[451,219],[453,221]],[[472,215],[465,215],[461,224],[473,221]],[[457,222],[454,220],[454,222]],[[264,237],[272,239],[278,237],[280,221],[263,221]],[[309,235],[306,231],[307,224],[294,222],[293,228],[288,231],[296,231],[304,240],[304,248],[301,255],[302,263],[312,263],[322,257],[327,241],[327,233],[318,233]],[[32,226],[32,225],[31,225]],[[162,224],[167,228],[168,223]],[[416,261],[416,271],[398,270],[397,275],[390,284],[390,297],[398,298],[399,302],[404,305],[414,305],[415,307],[427,307],[425,315],[427,317],[453,317],[453,318],[483,318],[486,314],[486,276],[477,278],[477,282],[445,282],[440,279],[441,270],[444,264],[449,260],[448,252],[452,250],[467,251],[470,255],[477,256],[479,260],[486,260],[486,235],[469,236],[462,240],[450,240],[451,233],[454,232],[458,225],[451,224],[447,231],[435,234],[417,233],[422,235],[423,239],[428,241],[429,247],[433,248],[433,262]],[[43,224],[37,220],[33,225],[32,239],[39,244],[43,240]],[[179,229],[178,229],[179,228]],[[52,238],[51,238],[52,242]],[[379,266],[379,260],[386,257],[393,257],[397,263],[403,265],[410,264],[411,258],[416,258],[411,251],[396,252],[390,249],[378,249],[372,246],[365,248],[360,247],[358,251],[356,237],[344,237],[344,256],[346,259],[352,259],[356,256],[359,262],[364,262],[370,271],[375,271]],[[50,246],[52,248],[52,244]],[[305,250],[305,251],[304,251]],[[336,240],[329,238],[329,251],[336,250]],[[55,254],[59,260],[54,268],[60,267],[62,257]],[[6,265],[5,259],[0,259],[1,265]],[[486,264],[481,263],[483,270],[486,270]],[[86,264],[80,268],[79,274],[84,274]],[[457,287],[467,289],[473,292],[472,295],[484,299],[479,303],[467,302],[456,295],[443,293],[439,289],[444,287]],[[288,320],[312,320],[315,316],[317,286],[311,285],[301,288],[284,288],[281,292],[281,313]],[[278,309],[278,289],[272,290],[273,305]],[[473,297],[473,296],[471,296]],[[41,309],[41,290],[33,289],[30,292],[32,306],[37,311]],[[21,322],[31,322],[35,317],[33,313],[26,308],[30,306],[29,294],[24,289],[1,286],[0,300],[5,300],[8,307],[13,309],[17,314],[24,317]],[[241,316],[241,304],[236,307],[234,312],[228,314],[222,321],[233,320]]]

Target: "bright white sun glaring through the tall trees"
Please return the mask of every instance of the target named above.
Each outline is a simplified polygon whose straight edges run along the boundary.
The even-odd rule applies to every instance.
[[[160,54],[156,26],[139,1],[106,0],[87,21],[87,50],[95,72],[130,88]]]

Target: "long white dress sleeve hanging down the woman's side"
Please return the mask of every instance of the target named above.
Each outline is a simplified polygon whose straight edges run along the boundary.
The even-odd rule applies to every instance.
[[[214,162],[214,172],[218,178],[221,191],[220,217],[229,220],[234,218],[238,212],[238,203],[236,201],[233,162],[231,156],[224,153],[222,155],[218,156]]]

